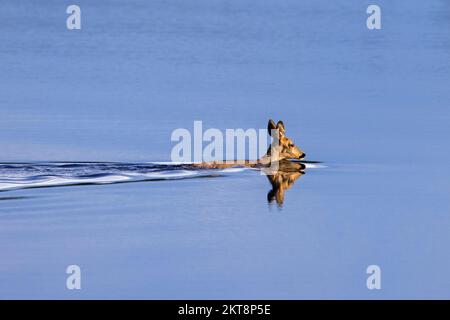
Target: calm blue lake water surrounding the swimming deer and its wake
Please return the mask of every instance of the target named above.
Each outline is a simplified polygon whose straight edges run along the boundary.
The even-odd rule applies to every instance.
[[[3,188],[0,298],[450,298],[448,1],[376,1],[381,30],[356,0],[77,4],[69,31],[67,3],[0,3],[0,186],[61,161],[139,181]],[[269,118],[322,162],[282,206],[255,170],[141,176],[176,128]]]

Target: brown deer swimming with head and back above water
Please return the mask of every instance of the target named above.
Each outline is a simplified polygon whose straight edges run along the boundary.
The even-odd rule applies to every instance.
[[[193,166],[202,169],[225,169],[236,166],[245,166],[251,168],[269,167],[272,162],[279,162],[283,159],[303,159],[305,153],[297,147],[294,142],[286,137],[286,128],[283,121],[278,121],[277,124],[270,119],[267,125],[269,135],[272,136],[273,141],[267,150],[266,154],[258,160],[226,160],[226,161],[212,161],[194,163]],[[302,169],[304,164],[298,164]]]

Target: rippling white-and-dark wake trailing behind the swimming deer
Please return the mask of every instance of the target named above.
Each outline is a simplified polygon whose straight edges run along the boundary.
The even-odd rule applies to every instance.
[[[307,165],[315,166],[318,165]],[[191,163],[173,162],[0,163],[0,192],[25,188],[217,177],[245,170],[252,169],[201,169],[193,167]]]

